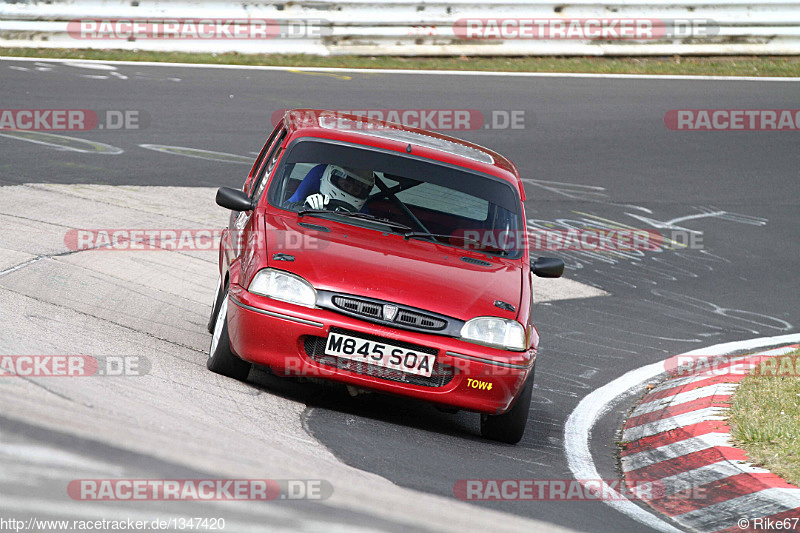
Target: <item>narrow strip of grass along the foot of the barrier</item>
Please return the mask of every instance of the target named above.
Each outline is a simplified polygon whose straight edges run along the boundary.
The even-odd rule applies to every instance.
[[[192,54],[125,50],[0,48],[15,57],[160,61],[283,67],[399,68],[416,70],[499,70],[612,74],[695,74],[716,76],[800,76],[800,57],[396,57],[262,54]]]

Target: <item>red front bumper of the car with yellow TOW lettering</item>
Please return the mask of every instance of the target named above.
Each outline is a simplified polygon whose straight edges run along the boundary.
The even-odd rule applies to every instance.
[[[319,377],[438,405],[502,414],[513,405],[533,369],[535,351],[507,352],[460,339],[394,329],[325,309],[310,309],[251,294],[229,292],[228,334],[233,352],[287,376]],[[331,329],[349,335],[411,344],[436,354],[429,378],[326,356]]]

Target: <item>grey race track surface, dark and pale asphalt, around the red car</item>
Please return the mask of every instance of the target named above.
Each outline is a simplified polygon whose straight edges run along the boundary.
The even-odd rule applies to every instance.
[[[90,141],[68,144],[77,151],[63,149],[74,142],[64,139],[0,136],[0,354],[138,354],[152,370],[113,380],[0,378],[4,516],[102,514],[65,496],[77,477],[263,477],[328,479],[335,496],[202,510],[115,502],[113,513],[202,512],[239,526],[230,530],[515,530],[534,519],[648,531],[602,502],[462,503],[453,485],[569,480],[564,423],[586,394],[670,355],[796,333],[800,324],[798,133],[664,124],[671,109],[797,109],[798,82],[92,67],[0,61],[4,108],[147,118],[138,130],[59,133]],[[227,213],[213,205],[213,188],[240,186],[272,113],[297,107],[524,111],[523,129],[452,133],[516,163],[532,224],[694,232],[700,241],[540,254],[562,257],[567,278],[608,295],[536,307],[542,349],[517,446],[481,439],[470,413],[350,398],[255,371],[246,385],[225,380],[205,370],[214,253],[58,254],[72,228],[221,227]],[[618,478],[615,442],[631,405],[617,405],[592,435],[605,479]],[[60,466],[43,456],[61,457]],[[18,459],[13,468],[7,457]],[[32,494],[39,503],[25,508]]]

